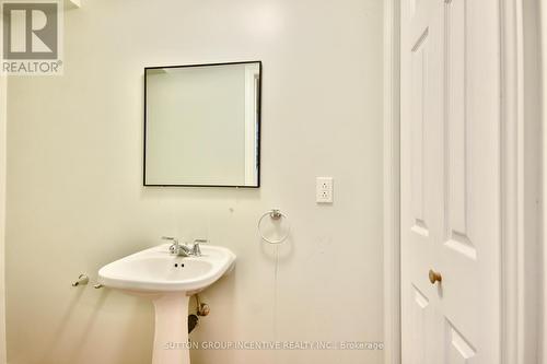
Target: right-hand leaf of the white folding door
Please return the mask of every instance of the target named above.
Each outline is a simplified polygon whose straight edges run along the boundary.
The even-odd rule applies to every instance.
[[[480,363],[499,363],[500,55],[492,0],[444,3],[445,224],[440,309]]]

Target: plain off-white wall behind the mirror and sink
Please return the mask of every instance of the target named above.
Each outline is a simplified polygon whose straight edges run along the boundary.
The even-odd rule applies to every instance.
[[[152,306],[80,272],[203,234],[238,257],[196,340],[381,341],[382,1],[94,0],[65,75],[9,80],[10,364],[147,364]],[[260,189],[143,188],[143,67],[264,62]],[[335,204],[314,201],[335,177]],[[275,254],[256,222],[279,207]],[[382,363],[372,351],[198,351],[194,363]]]

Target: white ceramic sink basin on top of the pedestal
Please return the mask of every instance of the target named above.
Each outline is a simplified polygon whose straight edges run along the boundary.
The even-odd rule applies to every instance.
[[[214,283],[235,261],[235,255],[220,246],[201,246],[200,257],[184,258],[170,254],[168,247],[160,245],[106,265],[98,282],[136,293],[193,294]]]

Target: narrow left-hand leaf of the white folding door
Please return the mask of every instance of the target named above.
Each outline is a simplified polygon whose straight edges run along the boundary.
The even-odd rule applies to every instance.
[[[404,64],[401,84],[401,260],[403,354],[405,364],[439,364],[442,355],[441,324],[437,317],[437,289],[428,283],[433,247],[442,234],[442,62],[439,52],[443,28],[442,8],[433,1],[408,1],[414,22],[401,36]],[[403,66],[403,64],[401,64]],[[403,96],[403,95],[401,95]],[[442,339],[441,339],[442,340]]]

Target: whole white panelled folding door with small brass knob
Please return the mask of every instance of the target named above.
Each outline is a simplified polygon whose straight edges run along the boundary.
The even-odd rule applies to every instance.
[[[403,364],[500,363],[499,27],[497,0],[401,0]]]

